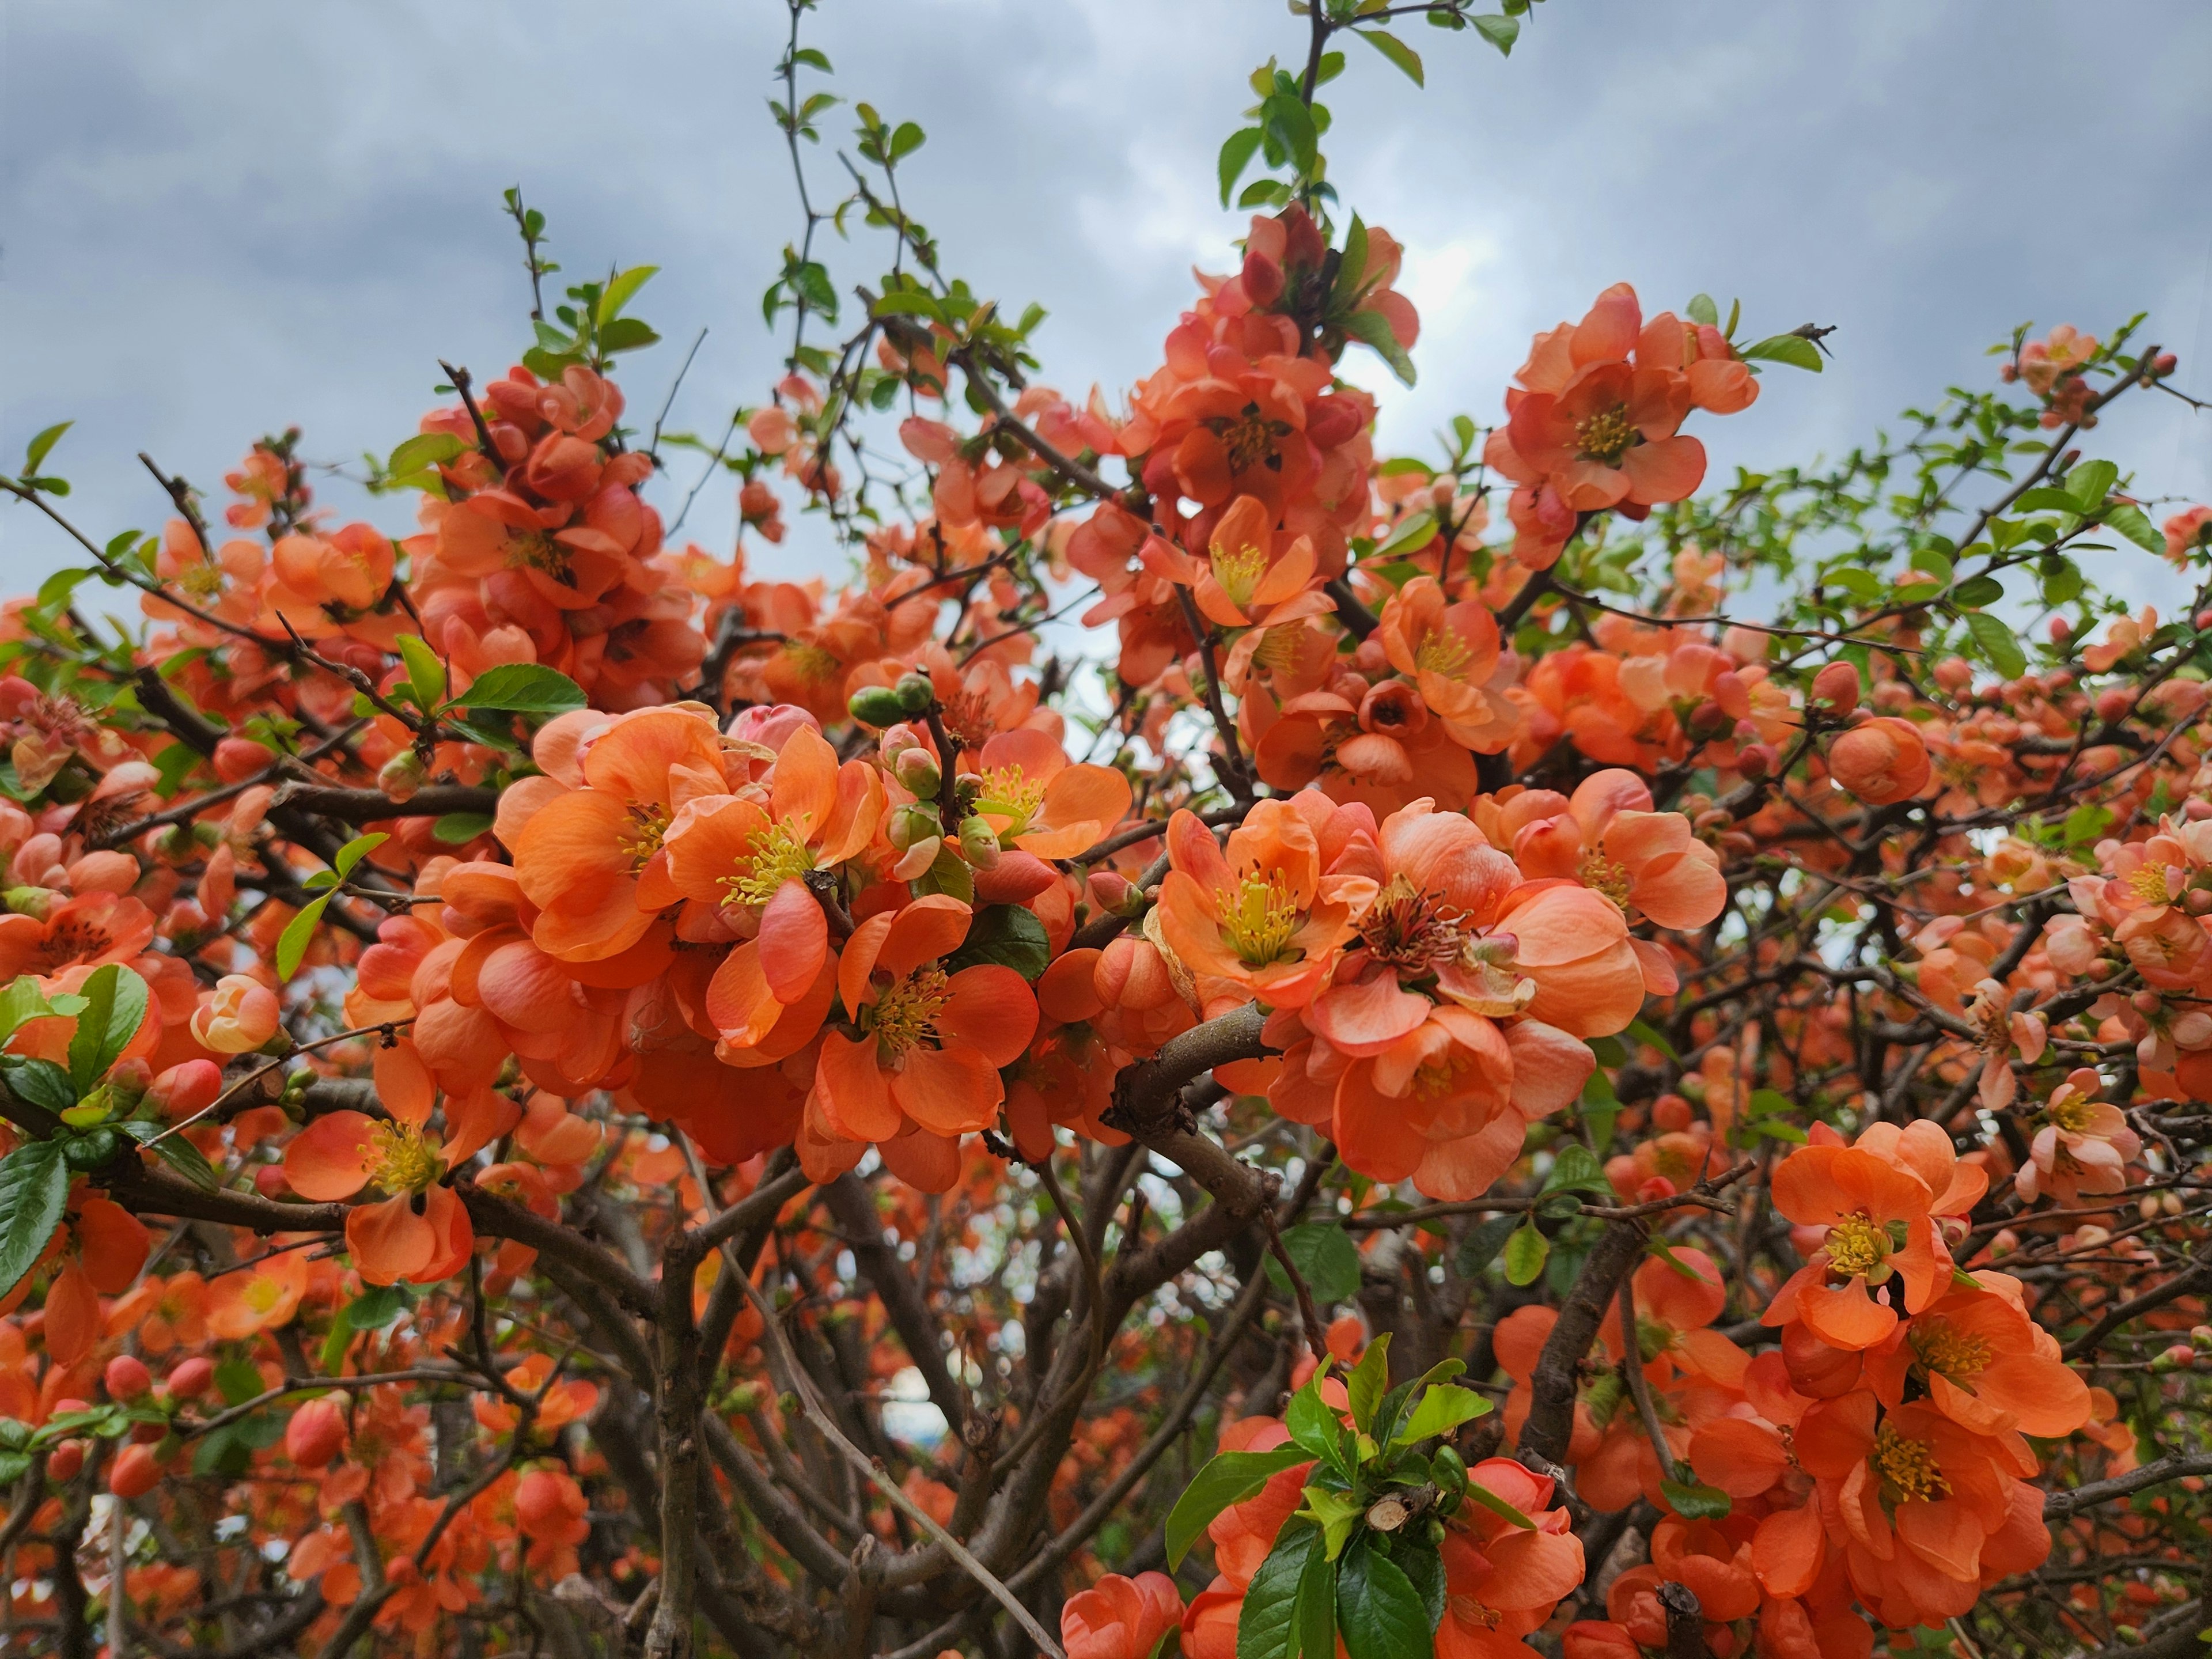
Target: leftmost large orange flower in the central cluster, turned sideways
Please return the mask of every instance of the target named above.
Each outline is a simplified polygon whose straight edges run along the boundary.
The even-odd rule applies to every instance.
[[[684,898],[661,838],[684,801],[723,792],[721,737],[712,717],[688,708],[624,714],[584,750],[582,779],[524,825],[515,880],[540,909],[538,949],[599,962]]]

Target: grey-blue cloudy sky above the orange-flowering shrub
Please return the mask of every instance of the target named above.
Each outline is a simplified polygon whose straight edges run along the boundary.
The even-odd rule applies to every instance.
[[[630,403],[650,418],[706,327],[672,425],[719,427],[779,356],[759,296],[796,234],[763,102],[783,31],[776,0],[4,0],[0,467],[75,418],[49,469],[106,538],[164,515],[139,449],[201,484],[288,422],[319,460],[389,449],[436,358],[489,376],[526,343],[509,184],[571,274],[664,268],[633,310],[668,343],[630,358]],[[1756,332],[1838,327],[1827,374],[1770,376],[1705,427],[1723,465],[1849,447],[1982,383],[1984,347],[2028,319],[2101,334],[2148,310],[2181,380],[2212,389],[2201,0],[1548,0],[1511,62],[1402,33],[1429,91],[1354,44],[1327,142],[1345,201],[1407,243],[1425,316],[1387,442],[1493,416],[1528,334],[1619,279],[1668,305],[1741,294]],[[1157,363],[1190,265],[1230,265],[1212,157],[1303,20],[1274,0],[823,0],[805,40],[847,100],[929,131],[907,204],[947,268],[1046,305],[1046,378],[1117,396]],[[838,144],[843,111],[810,153],[821,192]],[[2212,493],[2212,416],[2132,403],[2095,451],[2146,493]],[[407,522],[343,480],[323,495]],[[712,487],[686,531],[721,544],[730,522]],[[772,568],[818,557],[796,535]],[[0,584],[62,562],[0,511]]]

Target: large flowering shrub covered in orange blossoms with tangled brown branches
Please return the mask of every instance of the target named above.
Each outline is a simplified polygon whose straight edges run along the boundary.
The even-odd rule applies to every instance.
[[[2212,509],[2084,456],[2179,365],[1714,487],[1827,330],[1621,283],[1378,453],[1316,93],[1422,66],[1307,22],[1124,398],[860,104],[719,440],[511,192],[387,529],[0,478],[91,560],[0,615],[0,1650],[2190,1650],[2212,591],[2090,573]]]

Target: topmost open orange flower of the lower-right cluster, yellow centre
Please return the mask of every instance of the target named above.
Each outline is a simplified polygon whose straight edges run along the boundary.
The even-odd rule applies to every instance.
[[[1951,1254],[1929,1219],[1929,1190],[1858,1146],[1801,1146],[1774,1170],[1774,1208],[1825,1239],[1761,1316],[1765,1325],[1803,1321],[1829,1347],[1867,1349],[1898,1327],[1898,1312],[1874,1298],[1896,1279],[1905,1312],[1920,1312],[1949,1272]]]

